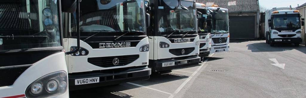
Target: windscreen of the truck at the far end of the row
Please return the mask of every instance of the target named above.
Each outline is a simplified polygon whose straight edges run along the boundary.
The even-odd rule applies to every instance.
[[[218,10],[212,14],[212,33],[224,33],[229,31],[228,11]]]

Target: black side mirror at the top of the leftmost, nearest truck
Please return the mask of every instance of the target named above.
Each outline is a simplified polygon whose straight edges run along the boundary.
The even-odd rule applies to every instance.
[[[61,0],[62,12],[74,13],[77,0]]]

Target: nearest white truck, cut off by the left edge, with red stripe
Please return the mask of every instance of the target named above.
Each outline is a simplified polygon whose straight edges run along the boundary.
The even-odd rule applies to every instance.
[[[0,98],[69,98],[61,13],[75,12],[76,0],[0,6]]]

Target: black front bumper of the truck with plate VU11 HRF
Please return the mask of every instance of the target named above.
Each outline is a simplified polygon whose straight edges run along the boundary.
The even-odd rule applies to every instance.
[[[187,56],[187,57],[177,57],[171,59],[162,59],[162,60],[149,60],[149,67],[152,68],[153,71],[167,71],[181,67],[187,67],[199,64],[200,57],[199,56]],[[174,62],[173,66],[162,67],[163,63]]]

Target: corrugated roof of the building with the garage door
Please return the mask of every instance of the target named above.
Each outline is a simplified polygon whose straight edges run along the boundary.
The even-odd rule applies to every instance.
[[[259,11],[258,0],[196,0],[196,2],[206,6],[218,5],[229,9],[229,12]]]

